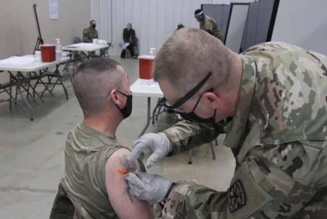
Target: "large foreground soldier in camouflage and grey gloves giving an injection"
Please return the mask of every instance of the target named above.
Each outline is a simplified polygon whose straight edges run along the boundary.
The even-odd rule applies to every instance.
[[[183,28],[158,52],[154,80],[166,107],[202,123],[182,121],[142,136],[133,143],[130,160],[150,148],[149,168],[220,133],[226,133],[224,144],[236,158],[227,191],[192,180],[173,183],[156,174],[126,174],[132,195],[164,205],[158,216],[327,215],[326,56],[283,42],[261,43],[239,55],[204,31]]]

